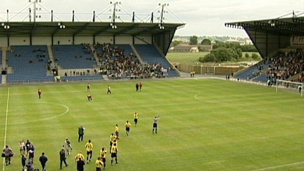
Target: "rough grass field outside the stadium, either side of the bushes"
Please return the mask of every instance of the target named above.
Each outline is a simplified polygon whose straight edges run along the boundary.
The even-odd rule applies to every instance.
[[[176,62],[176,63],[189,64],[189,63],[196,63],[196,62],[198,62],[198,59],[200,57],[204,57],[208,53],[209,52],[198,52],[198,53],[169,52],[166,57],[172,63]],[[252,60],[251,58],[246,59],[245,58],[245,53],[248,53],[249,56],[251,56],[252,53],[255,53],[255,54],[259,55],[258,52],[243,52],[242,61],[251,61]],[[261,60],[261,59],[259,59],[259,60]],[[233,63],[235,63],[235,62],[233,62]]]

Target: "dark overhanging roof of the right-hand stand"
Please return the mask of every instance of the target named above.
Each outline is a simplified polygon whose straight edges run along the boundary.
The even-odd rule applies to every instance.
[[[273,18],[225,23],[226,27],[284,36],[303,36],[304,17]]]

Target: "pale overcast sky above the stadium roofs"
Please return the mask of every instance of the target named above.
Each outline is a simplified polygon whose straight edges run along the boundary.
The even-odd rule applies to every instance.
[[[6,10],[9,9],[10,21],[28,21],[26,17],[29,7],[33,5],[29,0],[0,0],[0,21],[6,20]],[[33,0],[32,0],[33,1]],[[41,18],[37,21],[50,21],[51,10],[54,10],[56,21],[71,21],[72,10],[75,10],[76,21],[90,21],[93,11],[96,14],[103,12],[110,6],[107,0],[41,0],[41,8],[37,14]],[[113,1],[114,2],[114,1]],[[131,14],[135,11],[135,21],[149,21],[149,14],[159,8],[159,3],[169,4],[164,13],[164,22],[181,22],[186,26],[176,31],[176,35],[188,36],[238,36],[247,37],[245,31],[226,28],[225,22],[247,21],[257,19],[276,18],[295,10],[304,12],[303,0],[121,0],[117,16],[122,21],[131,21]],[[27,7],[29,6],[29,7]],[[22,9],[25,9],[18,14]],[[154,22],[160,13],[154,12]],[[178,16],[175,17],[174,15]],[[112,11],[107,9],[96,19],[97,21],[110,21]],[[37,15],[36,14],[36,15]],[[129,15],[130,14],[130,15]],[[148,16],[148,17],[147,17]],[[304,16],[304,15],[303,15]],[[117,20],[116,20],[117,21]]]

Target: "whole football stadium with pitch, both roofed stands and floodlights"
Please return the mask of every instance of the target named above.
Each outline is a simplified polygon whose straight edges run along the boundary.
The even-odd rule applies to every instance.
[[[2,171],[304,169],[304,17],[223,23],[262,60],[190,77],[166,58],[186,23],[164,22],[166,4],[120,21],[119,6],[1,22]]]

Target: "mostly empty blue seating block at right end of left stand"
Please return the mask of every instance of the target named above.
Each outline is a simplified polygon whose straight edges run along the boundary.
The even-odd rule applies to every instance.
[[[167,69],[168,76],[177,77],[179,74],[174,69],[172,70],[169,62],[158,52],[154,45],[134,45],[143,61],[155,65],[160,64],[161,67]]]

